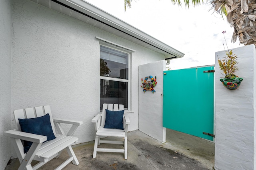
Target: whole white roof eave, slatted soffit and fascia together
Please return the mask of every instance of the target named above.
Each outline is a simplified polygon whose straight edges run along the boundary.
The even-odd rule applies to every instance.
[[[84,0],[31,1],[160,53],[165,56],[165,59],[175,59],[184,56],[184,53],[162,43]]]

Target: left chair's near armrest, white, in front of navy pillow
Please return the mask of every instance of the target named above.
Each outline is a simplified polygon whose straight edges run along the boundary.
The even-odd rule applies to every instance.
[[[35,143],[43,143],[44,141],[47,140],[46,136],[36,135],[36,134],[26,133],[21,131],[14,131],[14,130],[5,131],[4,135],[15,138],[15,139],[21,139],[24,141],[30,141]]]

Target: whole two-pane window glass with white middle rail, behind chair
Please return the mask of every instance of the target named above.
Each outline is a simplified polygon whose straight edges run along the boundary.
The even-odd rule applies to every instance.
[[[104,103],[128,108],[129,54],[100,46],[100,109]]]

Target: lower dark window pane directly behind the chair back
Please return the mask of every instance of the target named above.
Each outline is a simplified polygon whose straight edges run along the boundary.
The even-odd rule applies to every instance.
[[[100,109],[104,103],[128,106],[128,83],[112,80],[100,80]]]

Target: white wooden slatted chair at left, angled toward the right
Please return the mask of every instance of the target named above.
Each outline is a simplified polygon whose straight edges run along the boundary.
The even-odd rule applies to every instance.
[[[50,115],[50,123],[52,125],[52,131],[56,139],[43,143],[47,139],[46,136],[21,132],[18,119],[41,117],[43,115],[46,115],[47,113],[49,113]],[[50,106],[18,109],[14,111],[14,118],[16,121],[17,129],[5,131],[4,135],[10,137],[12,145],[14,146],[14,149],[20,161],[20,167],[18,170],[36,170],[53,158],[58,158],[63,149],[67,150],[70,158],[68,158],[65,162],[58,166],[56,170],[64,168],[64,166],[66,166],[71,161],[75,165],[79,164],[71,145],[78,141],[78,138],[73,137],[72,135],[74,134],[74,131],[77,129],[78,125],[82,125],[82,121],[53,119]],[[60,123],[72,124],[72,127],[66,135],[64,134]],[[54,125],[58,133],[56,133]],[[32,146],[26,153],[24,153],[23,141],[33,142]],[[32,167],[32,160],[37,160],[39,161],[39,163]]]

